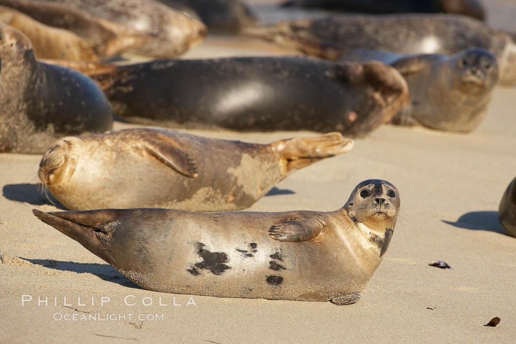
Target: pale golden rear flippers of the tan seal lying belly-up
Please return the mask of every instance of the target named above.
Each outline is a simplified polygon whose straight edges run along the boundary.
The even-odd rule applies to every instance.
[[[340,132],[329,132],[317,137],[297,137],[271,144],[286,162],[286,174],[319,160],[347,153],[353,149],[353,145],[354,141],[343,137]]]

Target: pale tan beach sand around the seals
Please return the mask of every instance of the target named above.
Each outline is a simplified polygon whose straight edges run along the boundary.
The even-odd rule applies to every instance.
[[[502,1],[498,1],[503,3]],[[491,18],[491,17],[490,17]],[[262,49],[264,47],[261,47]],[[265,47],[282,54],[276,47]],[[224,50],[225,49],[225,50]],[[255,53],[214,38],[190,57]],[[350,306],[223,299],[138,288],[31,209],[59,210],[39,193],[40,156],[0,154],[0,340],[25,342],[507,342],[516,341],[516,238],[502,234],[498,202],[516,175],[516,90],[498,88],[472,134],[385,125],[344,156],[297,171],[249,210],[335,210],[368,178],[394,183],[402,215],[385,259]],[[130,125],[116,123],[115,129]],[[188,130],[254,142],[311,132]],[[121,195],[123,197],[123,195]],[[427,264],[444,260],[453,269]],[[22,295],[33,301],[22,306]],[[124,297],[132,295],[124,304]],[[38,306],[38,297],[49,305]],[[54,306],[54,297],[57,305]],[[67,298],[65,306],[63,297]],[[79,306],[77,297],[86,306]],[[91,306],[91,297],[94,305]],[[100,305],[101,297],[110,301]],[[151,306],[142,299],[150,297]],[[162,303],[168,306],[159,306]],[[173,306],[173,297],[176,304]],[[149,301],[146,299],[144,301]],[[130,320],[65,321],[100,313]],[[162,315],[163,320],[135,319]],[[500,317],[496,328],[484,326]]]

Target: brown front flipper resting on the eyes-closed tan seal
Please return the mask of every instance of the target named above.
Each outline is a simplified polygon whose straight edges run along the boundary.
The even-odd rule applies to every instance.
[[[168,136],[156,134],[152,130],[149,130],[149,135],[142,135],[141,138],[144,140],[141,148],[151,156],[186,177],[197,177],[195,162],[187,152],[179,147],[179,143]]]

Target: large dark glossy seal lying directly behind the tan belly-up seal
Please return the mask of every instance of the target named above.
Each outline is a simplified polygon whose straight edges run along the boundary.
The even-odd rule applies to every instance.
[[[174,128],[308,129],[365,136],[408,101],[405,79],[380,62],[163,60],[91,77],[126,121]]]

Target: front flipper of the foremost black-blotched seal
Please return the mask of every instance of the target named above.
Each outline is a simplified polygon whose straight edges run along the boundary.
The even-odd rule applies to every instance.
[[[269,236],[283,242],[302,242],[311,240],[325,229],[322,218],[314,215],[289,218],[279,225],[269,228]]]

